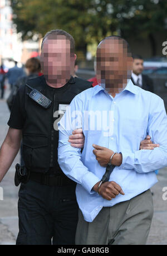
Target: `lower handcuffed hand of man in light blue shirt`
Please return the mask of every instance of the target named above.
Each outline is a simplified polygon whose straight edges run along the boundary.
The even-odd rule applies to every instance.
[[[98,186],[100,182],[97,182],[95,186],[93,187],[94,191],[97,192]],[[107,181],[101,184],[99,188],[100,195],[105,198],[106,200],[111,200],[112,198],[115,198],[117,195],[125,195],[124,191],[122,191],[122,188],[119,184],[117,184],[114,181]]]

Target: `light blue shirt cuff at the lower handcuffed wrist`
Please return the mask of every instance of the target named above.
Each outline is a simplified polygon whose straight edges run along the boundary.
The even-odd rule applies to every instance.
[[[88,172],[84,175],[84,178],[82,179],[82,186],[86,189],[87,192],[93,194],[95,193],[95,191],[92,190],[92,188],[99,181],[100,179],[97,176],[95,176],[94,173]]]

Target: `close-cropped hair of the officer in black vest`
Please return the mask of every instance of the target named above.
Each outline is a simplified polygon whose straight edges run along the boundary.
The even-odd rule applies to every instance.
[[[43,42],[45,41],[46,38],[50,37],[51,39],[55,39],[56,36],[65,36],[66,39],[70,41],[71,53],[75,52],[75,40],[73,39],[73,36],[61,29],[48,31],[42,39],[41,49],[43,46]]]

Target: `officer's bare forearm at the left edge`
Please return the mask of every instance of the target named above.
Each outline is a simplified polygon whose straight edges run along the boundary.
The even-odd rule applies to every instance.
[[[0,182],[11,167],[14,158],[16,157],[19,144],[16,146],[10,145],[7,141],[4,141],[0,149]]]

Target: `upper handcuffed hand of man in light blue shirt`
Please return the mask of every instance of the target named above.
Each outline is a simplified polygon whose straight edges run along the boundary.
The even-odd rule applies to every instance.
[[[110,157],[114,153],[111,149],[107,149],[104,146],[92,145],[95,149],[93,150],[94,155],[96,155],[96,160],[102,167],[106,167],[110,162]],[[120,166],[122,163],[122,154],[115,154],[112,157],[111,164]]]

